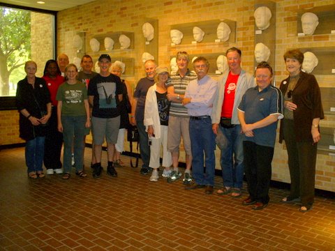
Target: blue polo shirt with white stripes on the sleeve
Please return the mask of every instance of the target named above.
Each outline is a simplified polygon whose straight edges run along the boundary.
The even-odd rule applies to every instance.
[[[267,86],[262,91],[258,86],[250,88],[244,93],[238,109],[244,112],[244,120],[247,124],[255,123],[265,119],[269,115],[278,114],[278,119],[283,119],[283,96],[281,91],[274,87]],[[254,142],[260,146],[274,147],[276,142],[277,121],[269,126],[253,130],[253,137],[246,137],[244,141]]]

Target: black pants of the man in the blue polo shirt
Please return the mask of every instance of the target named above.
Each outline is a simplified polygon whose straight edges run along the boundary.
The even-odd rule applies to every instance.
[[[267,204],[270,200],[269,185],[274,148],[244,141],[243,153],[249,195],[252,200]]]

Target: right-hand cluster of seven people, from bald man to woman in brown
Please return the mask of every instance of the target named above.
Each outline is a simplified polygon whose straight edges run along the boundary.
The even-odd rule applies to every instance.
[[[304,54],[299,50],[285,53],[289,77],[279,88],[272,85],[274,72],[269,63],[258,63],[251,75],[241,68],[241,50],[232,47],[225,55],[229,69],[217,82],[207,75],[209,62],[202,56],[193,61],[193,71],[188,69],[186,52],[177,52],[178,71],[172,76],[153,60],[144,64],[147,77],[136,86],[131,114],[131,123],[140,131],[141,173],[152,169],[150,181],[158,181],[163,147],[162,176],[168,182],[177,181],[182,175],[178,168],[182,139],[185,189],[204,188],[212,194],[217,143],[223,186],[216,193],[241,197],[245,174],[249,196],[242,204],[263,209],[270,199],[271,162],[281,119],[280,142],[284,139],[288,149],[291,176],[290,195],[281,201],[301,203],[301,212],[310,210],[319,121],[324,115],[318,82],[301,71]]]

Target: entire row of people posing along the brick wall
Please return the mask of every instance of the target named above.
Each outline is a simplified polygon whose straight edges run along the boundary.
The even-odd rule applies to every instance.
[[[57,61],[47,62],[45,80],[35,76],[36,63],[28,61],[27,77],[17,86],[17,107],[20,137],[27,140],[29,177],[44,176],[44,141],[47,174],[51,170],[52,174],[62,172],[59,132],[64,139],[63,178],[70,177],[72,152],[76,173],[87,176],[82,160],[84,135],[89,132],[85,128],[90,126],[94,178],[100,177],[103,170],[104,140],[107,174],[117,176],[114,167],[122,165],[119,155],[124,151],[124,130],[131,124],[137,126],[140,137],[143,162],[140,173],[151,172],[150,181],[158,181],[161,152],[162,176],[169,183],[183,176],[179,170],[182,140],[186,153],[185,189],[204,188],[206,194],[212,194],[217,143],[221,149],[223,186],[216,193],[241,197],[245,174],[249,196],[242,204],[259,210],[269,203],[271,161],[277,123],[281,119],[279,138],[280,142],[285,140],[291,177],[290,195],[282,202],[299,202],[299,211],[310,210],[314,200],[319,121],[324,115],[318,82],[313,75],[301,71],[304,54],[299,50],[285,53],[289,77],[279,88],[272,85],[274,72],[269,63],[258,63],[255,75],[251,75],[241,68],[241,50],[232,47],[225,56],[229,69],[218,81],[207,75],[209,61],[203,56],[193,61],[190,70],[188,54],[177,52],[178,71],[171,76],[168,68],[147,60],[146,77],[140,79],[134,93],[120,79],[122,65],[112,64],[108,54],[99,57],[98,74],[91,72],[93,62],[88,55],[82,59],[83,70],[79,74],[75,65],[67,62],[65,80]]]

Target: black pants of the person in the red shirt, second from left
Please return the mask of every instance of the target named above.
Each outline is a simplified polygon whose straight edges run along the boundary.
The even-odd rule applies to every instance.
[[[57,129],[57,107],[52,107],[51,117],[45,136],[44,165],[46,169],[61,168],[61,146],[63,134]]]

